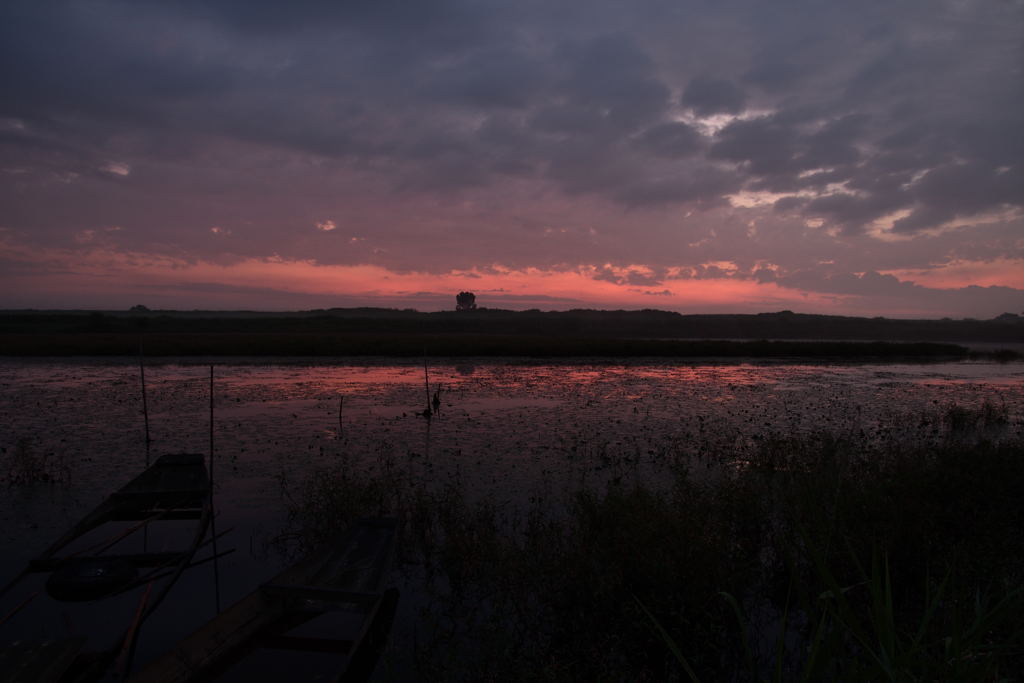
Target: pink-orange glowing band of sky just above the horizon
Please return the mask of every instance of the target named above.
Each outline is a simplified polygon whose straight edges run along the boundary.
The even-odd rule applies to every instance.
[[[119,251],[99,243],[79,249],[30,249],[0,238],[0,308],[308,310],[376,306],[447,310],[469,290],[487,308],[656,308],[680,312],[804,313],[895,317],[995,316],[1019,310],[1014,297],[975,290],[987,307],[965,304],[967,285],[1024,285],[1020,261],[957,263],[938,272],[893,272],[900,296],[886,292],[815,292],[730,276],[731,263],[670,269],[658,280],[642,264],[564,264],[510,268],[498,264],[447,272],[394,271],[380,265],[324,265],[314,261],[236,259],[224,262]],[[699,264],[698,264],[699,265]],[[13,266],[13,267],[10,267]],[[697,278],[703,271],[718,276]],[[998,273],[1005,273],[999,275]],[[970,274],[976,280],[968,280]],[[1001,279],[1000,279],[1001,278]],[[934,285],[933,285],[934,283]],[[952,288],[935,287],[949,285]],[[929,289],[930,288],[930,289]],[[1001,298],[999,298],[1001,296]],[[958,297],[958,298],[957,298]]]

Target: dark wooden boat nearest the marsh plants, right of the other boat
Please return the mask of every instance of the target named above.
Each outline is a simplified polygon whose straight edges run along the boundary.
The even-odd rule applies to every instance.
[[[340,661],[333,671],[340,671],[339,680],[366,680],[387,639],[397,605],[397,590],[381,590],[393,562],[395,537],[393,519],[355,521],[321,552],[239,600],[130,681],[211,680],[260,648],[335,654]],[[295,635],[303,625],[336,610],[357,615],[352,637]]]

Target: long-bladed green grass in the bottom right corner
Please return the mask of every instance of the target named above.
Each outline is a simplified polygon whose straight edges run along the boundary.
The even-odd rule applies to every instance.
[[[856,557],[851,560],[857,562]],[[880,562],[876,557],[870,575],[865,574],[862,582],[851,586],[840,586],[824,564],[819,566],[819,572],[820,579],[831,588],[811,600],[806,611],[796,614],[804,624],[800,627],[802,638],[797,639],[799,647],[794,648],[788,642],[790,620],[794,616],[791,609],[795,607],[791,587],[778,620],[773,650],[760,657],[754,654],[759,643],[752,642],[739,601],[728,593],[720,594],[733,608],[741,629],[744,658],[742,666],[732,672],[733,679],[773,683],[1012,680],[1006,675],[1012,675],[1020,661],[1022,630],[1017,618],[1024,609],[1024,589],[1000,591],[1004,596],[1000,599],[993,599],[990,592],[979,591],[965,609],[954,611],[951,623],[936,624],[935,615],[948,611],[944,600],[952,572],[947,572],[925,597],[920,622],[903,625],[894,609],[888,559]],[[866,598],[869,602],[866,613],[855,606],[857,593],[863,594],[861,600]],[[699,683],[700,676],[690,666],[683,648],[646,605],[639,598],[635,600],[686,678]],[[998,636],[993,635],[996,630]]]

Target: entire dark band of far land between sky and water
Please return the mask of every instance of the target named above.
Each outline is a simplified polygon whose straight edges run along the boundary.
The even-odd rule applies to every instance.
[[[125,355],[141,347],[146,355],[966,357],[953,342],[1020,344],[1024,321],[485,308],[0,313],[0,354],[23,356]]]

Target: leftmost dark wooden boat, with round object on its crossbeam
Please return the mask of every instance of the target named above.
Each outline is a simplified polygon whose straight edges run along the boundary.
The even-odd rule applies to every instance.
[[[178,550],[146,552],[143,545],[141,552],[112,552],[118,544],[125,545],[129,537],[145,536],[148,540],[153,533],[156,539],[162,530],[158,522],[187,520],[196,523],[185,524],[183,529],[176,525],[175,530],[183,531],[185,540]],[[14,633],[24,632],[28,629],[16,621],[28,618],[33,609],[67,614],[73,608],[67,603],[82,603],[80,609],[98,613],[102,622],[89,627],[89,631],[98,633],[106,628],[114,637],[96,636],[95,640],[101,641],[98,649],[85,637],[38,643],[19,639],[0,649],[0,682],[97,680],[119,655],[126,666],[135,634],[191,562],[203,545],[210,520],[210,481],[202,455],[163,456],[110,496],[0,589],[3,598],[13,594],[19,584],[34,581],[33,574],[47,578],[45,590],[37,588],[33,593],[28,587],[28,598],[12,610],[4,607],[0,625]],[[113,537],[109,536],[109,524],[117,527]],[[129,592],[142,593],[137,606],[132,606],[135,597]],[[123,604],[126,599],[131,600],[127,609]],[[66,606],[61,607],[61,603]],[[119,603],[117,608],[114,603]],[[18,613],[23,610],[26,613]],[[111,626],[120,612],[124,613],[124,622]],[[36,626],[33,624],[33,628]],[[54,625],[57,631],[59,627]]]

